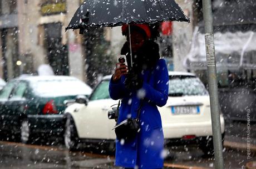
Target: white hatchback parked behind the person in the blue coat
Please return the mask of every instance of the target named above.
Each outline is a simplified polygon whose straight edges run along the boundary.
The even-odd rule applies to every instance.
[[[114,142],[112,127],[115,120],[108,119],[111,106],[119,100],[109,96],[109,81],[105,76],[93,90],[88,101],[77,99],[65,110],[65,145],[73,149],[78,142]],[[197,142],[205,154],[213,151],[210,99],[203,83],[192,73],[169,72],[169,98],[159,107],[164,138],[168,145],[184,141]],[[114,106],[116,107],[116,105]],[[224,118],[220,115],[221,133],[224,135]]]

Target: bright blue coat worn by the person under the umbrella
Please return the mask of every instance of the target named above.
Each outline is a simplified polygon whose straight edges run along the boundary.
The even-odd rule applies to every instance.
[[[150,76],[149,83],[147,79]],[[135,118],[140,105],[138,96],[144,96],[140,113],[140,132],[133,141],[116,140],[116,166],[126,168],[163,168],[164,135],[161,116],[156,106],[164,106],[168,99],[168,69],[164,59],[159,59],[152,71],[141,73],[142,89],[125,89],[125,76],[117,82],[110,81],[109,93],[114,100],[122,98],[118,123]]]

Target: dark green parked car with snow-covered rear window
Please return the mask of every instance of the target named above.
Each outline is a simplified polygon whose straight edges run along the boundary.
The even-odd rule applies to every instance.
[[[67,99],[88,96],[92,89],[71,76],[23,76],[9,81],[0,91],[1,136],[11,135],[23,143],[35,134],[63,131]]]

